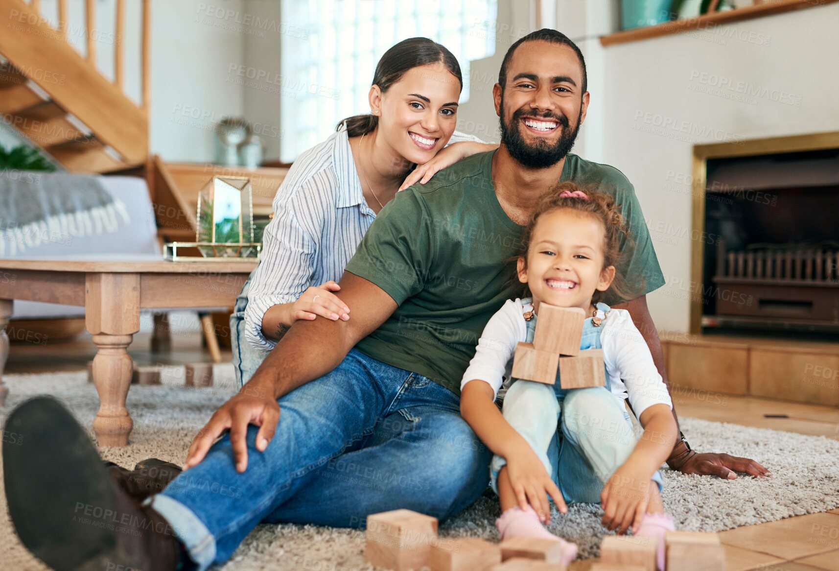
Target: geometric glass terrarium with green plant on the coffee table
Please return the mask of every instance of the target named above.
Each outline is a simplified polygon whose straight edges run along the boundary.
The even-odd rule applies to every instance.
[[[206,258],[255,258],[251,181],[213,176],[198,193],[195,241]]]

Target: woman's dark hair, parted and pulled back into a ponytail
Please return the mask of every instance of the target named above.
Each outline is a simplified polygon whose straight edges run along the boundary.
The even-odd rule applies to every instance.
[[[381,60],[376,65],[376,73],[373,74],[373,83],[382,92],[387,92],[394,83],[402,79],[406,71],[419,67],[420,65],[435,64],[437,62],[446,65],[451,75],[457,78],[463,90],[463,76],[461,76],[461,65],[457,58],[446,49],[446,46],[438,44],[433,39],[409,38],[403,39],[399,44],[393,45],[384,52]],[[336,131],[341,130],[341,125],[347,125],[347,134],[350,137],[358,137],[370,133],[378,125],[378,116],[373,113],[364,115],[353,115],[341,120],[336,125]]]

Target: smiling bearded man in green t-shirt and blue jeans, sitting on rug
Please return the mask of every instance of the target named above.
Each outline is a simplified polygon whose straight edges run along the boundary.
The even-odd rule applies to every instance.
[[[490,454],[459,414],[461,375],[487,320],[512,296],[503,260],[518,252],[521,224],[557,181],[597,186],[622,205],[634,246],[625,246],[620,271],[640,296],[607,302],[624,301],[664,374],[644,298],[664,280],[633,188],[618,170],[568,153],[589,102],[580,51],[555,30],[525,36],[508,51],[493,97],[498,151],[383,209],[341,280],[352,319],[296,322],[195,437],[188,469],[146,505],[113,483],[55,402],[14,411],[8,430],[26,434],[28,448],[3,453],[24,544],[60,568],[95,560],[203,569],[227,560],[260,522],[363,526],[378,511],[446,518],[469,506],[487,487]],[[670,463],[721,477],[765,473],[685,443]],[[46,474],[55,464],[60,477]],[[88,512],[115,514],[129,532],[73,519]]]

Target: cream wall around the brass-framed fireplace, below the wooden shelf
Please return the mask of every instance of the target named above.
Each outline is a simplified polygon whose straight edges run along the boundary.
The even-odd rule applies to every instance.
[[[670,282],[649,296],[659,328],[689,328],[693,144],[839,130],[837,22],[830,4],[605,48],[602,160],[633,182]],[[700,92],[715,81],[758,95]]]

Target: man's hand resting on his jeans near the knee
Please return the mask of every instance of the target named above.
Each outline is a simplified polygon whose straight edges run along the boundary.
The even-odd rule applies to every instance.
[[[274,399],[273,393],[250,383],[244,385],[236,396],[213,413],[210,422],[207,422],[195,435],[190,451],[186,454],[184,469],[201,463],[216,439],[225,431],[230,431],[236,471],[244,472],[248,468],[248,443],[246,441],[248,426],[253,424],[259,427],[256,447],[259,452],[264,452],[271,438],[274,437],[277,422],[279,422],[279,404]]]

